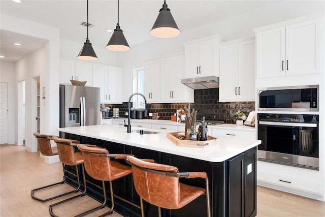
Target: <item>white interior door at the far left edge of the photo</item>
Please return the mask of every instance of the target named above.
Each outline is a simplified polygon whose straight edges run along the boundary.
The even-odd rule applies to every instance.
[[[0,144],[8,143],[8,84],[0,82]]]

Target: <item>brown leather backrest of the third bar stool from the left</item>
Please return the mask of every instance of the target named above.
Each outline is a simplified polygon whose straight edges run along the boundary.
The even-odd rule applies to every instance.
[[[91,177],[104,181],[114,179],[107,149],[88,147],[84,144],[78,144],[78,149],[82,152],[85,169]]]

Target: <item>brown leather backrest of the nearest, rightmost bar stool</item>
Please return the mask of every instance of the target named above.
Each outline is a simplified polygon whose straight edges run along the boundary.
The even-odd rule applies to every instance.
[[[177,167],[146,162],[132,156],[127,157],[127,162],[132,165],[134,186],[140,197],[162,208],[182,207]]]

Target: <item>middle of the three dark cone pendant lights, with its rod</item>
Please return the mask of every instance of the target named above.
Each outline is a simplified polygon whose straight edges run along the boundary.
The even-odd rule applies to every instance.
[[[112,51],[128,51],[131,48],[128,46],[127,41],[123,35],[123,31],[119,25],[119,1],[117,0],[117,24],[114,33],[106,45],[106,49]]]

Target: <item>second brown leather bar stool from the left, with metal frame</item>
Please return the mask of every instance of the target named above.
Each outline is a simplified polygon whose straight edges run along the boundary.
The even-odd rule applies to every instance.
[[[84,191],[82,192],[82,194],[79,194],[77,196],[68,198],[66,200],[62,200],[59,201],[57,203],[51,204],[49,205],[49,210],[50,210],[50,214],[51,216],[57,216],[53,213],[52,208],[54,206],[57,206],[59,204],[68,202],[70,200],[82,197],[86,194],[86,178],[85,178],[85,172],[84,172],[84,166],[83,166],[83,158],[82,158],[82,153],[81,152],[75,152],[75,147],[77,147],[77,144],[74,144],[70,139],[61,139],[58,138],[57,136],[52,136],[53,141],[56,143],[57,145],[57,150],[58,150],[58,154],[59,154],[59,158],[62,161],[63,165],[68,165],[68,166],[75,166],[76,167],[76,174],[72,173],[69,170],[66,170],[63,166],[63,170],[66,173],[69,173],[73,176],[75,176],[77,178],[77,183],[78,183],[78,188],[75,190],[75,192],[79,191],[80,188],[80,178],[79,178],[79,172],[78,172],[78,165],[81,165],[81,171],[82,171],[82,178],[83,178],[83,184],[84,184]],[[91,146],[91,147],[96,147],[96,145],[87,145],[87,146]],[[91,212],[92,210],[88,210],[85,211],[77,216],[82,216],[84,214],[87,214],[89,212]]]

